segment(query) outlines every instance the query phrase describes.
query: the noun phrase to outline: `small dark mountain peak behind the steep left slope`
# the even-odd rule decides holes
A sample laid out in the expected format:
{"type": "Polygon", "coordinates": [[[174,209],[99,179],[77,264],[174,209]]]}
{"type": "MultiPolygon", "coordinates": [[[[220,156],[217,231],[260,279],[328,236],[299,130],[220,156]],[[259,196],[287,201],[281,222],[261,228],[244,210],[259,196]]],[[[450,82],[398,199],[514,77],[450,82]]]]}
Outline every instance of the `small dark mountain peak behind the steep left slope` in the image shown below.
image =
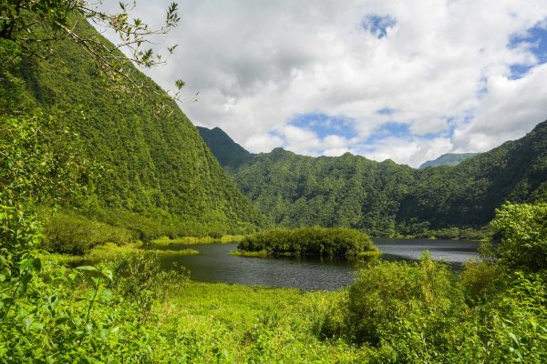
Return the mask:
{"type": "Polygon", "coordinates": [[[233,171],[253,159],[253,154],[235,143],[220,127],[197,127],[212,154],[225,169],[233,171]]]}

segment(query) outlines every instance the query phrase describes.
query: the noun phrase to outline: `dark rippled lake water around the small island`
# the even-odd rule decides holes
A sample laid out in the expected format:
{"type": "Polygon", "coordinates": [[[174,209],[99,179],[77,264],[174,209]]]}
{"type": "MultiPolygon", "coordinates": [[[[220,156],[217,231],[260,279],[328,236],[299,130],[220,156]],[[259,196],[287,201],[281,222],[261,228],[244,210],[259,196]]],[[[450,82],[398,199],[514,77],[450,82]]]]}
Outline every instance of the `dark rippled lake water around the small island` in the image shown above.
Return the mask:
{"type": "MultiPolygon", "coordinates": [[[[455,240],[374,239],[386,260],[414,260],[426,249],[434,259],[454,268],[478,258],[479,243],[455,240]]],[[[295,258],[253,258],[228,254],[237,244],[170,245],[165,249],[192,248],[200,255],[162,258],[165,268],[174,263],[190,269],[191,279],[206,282],[242,283],[304,290],[335,290],[350,285],[359,264],[346,261],[320,261],[295,258]]]]}

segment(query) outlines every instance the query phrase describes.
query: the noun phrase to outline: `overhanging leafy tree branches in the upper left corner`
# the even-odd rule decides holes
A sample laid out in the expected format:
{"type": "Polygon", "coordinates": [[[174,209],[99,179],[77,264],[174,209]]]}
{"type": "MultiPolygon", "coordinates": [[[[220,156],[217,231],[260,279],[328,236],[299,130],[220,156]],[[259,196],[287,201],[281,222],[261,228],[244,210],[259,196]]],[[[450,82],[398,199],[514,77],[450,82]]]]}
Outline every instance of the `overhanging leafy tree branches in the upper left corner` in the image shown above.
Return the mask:
{"type": "MultiPolygon", "coordinates": [[[[0,0],[0,39],[14,42],[27,55],[42,58],[52,52],[52,45],[58,40],[71,39],[95,60],[100,71],[114,84],[122,86],[117,82],[122,79],[129,84],[129,90],[144,91],[144,84],[131,76],[131,66],[151,67],[165,62],[165,57],[152,47],[151,38],[167,34],[177,26],[180,21],[177,3],[169,5],[164,25],[159,29],[151,29],[141,19],[131,18],[134,3],[120,2],[117,13],[101,11],[98,5],[100,2],[88,0],[0,0]],[[119,36],[119,44],[111,45],[97,35],[77,32],[78,23],[86,20],[114,31],[119,36]]],[[[176,47],[168,46],[168,54],[176,47]]],[[[0,65],[0,79],[2,68],[0,65]]],[[[182,86],[182,80],[175,81],[174,98],[182,86]]]]}

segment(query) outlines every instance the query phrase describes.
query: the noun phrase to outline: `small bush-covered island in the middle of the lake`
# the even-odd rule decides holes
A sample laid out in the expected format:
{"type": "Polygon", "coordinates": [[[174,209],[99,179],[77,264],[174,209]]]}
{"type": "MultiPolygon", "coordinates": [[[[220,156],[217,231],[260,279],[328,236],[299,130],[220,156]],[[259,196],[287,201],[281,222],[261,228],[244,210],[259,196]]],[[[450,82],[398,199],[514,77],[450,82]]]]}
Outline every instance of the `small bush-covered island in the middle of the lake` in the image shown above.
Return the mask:
{"type": "Polygon", "coordinates": [[[378,254],[365,233],[347,227],[274,229],[243,238],[236,255],[354,259],[378,254]]]}

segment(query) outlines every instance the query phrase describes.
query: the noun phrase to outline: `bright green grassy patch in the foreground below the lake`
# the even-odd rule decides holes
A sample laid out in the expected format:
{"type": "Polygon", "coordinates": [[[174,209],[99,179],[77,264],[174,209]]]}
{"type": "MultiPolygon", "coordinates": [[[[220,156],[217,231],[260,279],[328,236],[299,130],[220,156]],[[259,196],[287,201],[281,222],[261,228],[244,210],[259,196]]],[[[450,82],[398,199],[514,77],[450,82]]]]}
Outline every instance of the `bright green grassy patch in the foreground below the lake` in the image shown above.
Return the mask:
{"type": "Polygon", "coordinates": [[[314,334],[317,315],[340,292],[192,281],[175,291],[158,324],[187,340],[178,343],[186,362],[361,362],[362,350],[314,334]]]}

